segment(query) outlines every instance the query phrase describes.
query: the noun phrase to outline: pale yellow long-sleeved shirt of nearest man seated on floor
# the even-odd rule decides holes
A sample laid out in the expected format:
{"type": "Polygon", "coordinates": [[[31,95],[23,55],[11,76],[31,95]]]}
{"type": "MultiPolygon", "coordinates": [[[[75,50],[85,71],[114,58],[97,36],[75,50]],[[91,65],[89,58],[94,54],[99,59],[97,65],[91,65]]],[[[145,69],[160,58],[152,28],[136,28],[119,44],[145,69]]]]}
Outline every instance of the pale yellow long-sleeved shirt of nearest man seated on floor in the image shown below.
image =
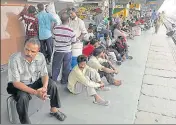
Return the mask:
{"type": "Polygon", "coordinates": [[[73,70],[70,72],[68,77],[68,85],[67,88],[75,94],[74,88],[77,83],[84,84],[85,86],[89,86],[92,88],[100,87],[99,83],[96,83],[94,81],[91,81],[90,79],[86,78],[86,72],[94,71],[96,72],[95,77],[98,79],[98,81],[101,81],[100,75],[95,69],[90,68],[89,66],[86,66],[83,71],[79,69],[78,65],[76,65],[73,70]]]}

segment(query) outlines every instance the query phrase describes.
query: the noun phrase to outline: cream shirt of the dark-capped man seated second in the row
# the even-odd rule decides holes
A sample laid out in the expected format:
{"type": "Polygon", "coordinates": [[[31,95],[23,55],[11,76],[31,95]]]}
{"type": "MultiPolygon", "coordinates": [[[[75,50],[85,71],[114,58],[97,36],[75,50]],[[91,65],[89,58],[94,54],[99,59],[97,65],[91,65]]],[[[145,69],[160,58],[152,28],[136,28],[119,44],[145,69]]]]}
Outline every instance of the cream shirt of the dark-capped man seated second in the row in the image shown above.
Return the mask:
{"type": "Polygon", "coordinates": [[[91,56],[87,65],[98,71],[104,68],[104,66],[101,65],[103,62],[105,62],[105,60],[101,58],[97,59],[95,56],[91,56]]]}

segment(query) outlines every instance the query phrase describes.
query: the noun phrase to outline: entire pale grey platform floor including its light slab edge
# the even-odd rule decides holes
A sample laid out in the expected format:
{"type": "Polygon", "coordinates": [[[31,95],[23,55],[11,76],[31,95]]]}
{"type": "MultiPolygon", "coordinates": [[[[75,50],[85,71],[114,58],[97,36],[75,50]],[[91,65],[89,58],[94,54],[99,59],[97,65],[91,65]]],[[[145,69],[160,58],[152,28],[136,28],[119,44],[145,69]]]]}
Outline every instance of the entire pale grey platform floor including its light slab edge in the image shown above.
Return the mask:
{"type": "MultiPolygon", "coordinates": [[[[49,116],[49,101],[35,104],[31,114],[33,124],[176,124],[176,45],[162,26],[158,34],[153,29],[129,40],[133,60],[125,61],[115,77],[120,87],[110,86],[98,93],[110,100],[109,106],[93,104],[86,92],[72,95],[58,84],[64,122],[49,116]]],[[[1,72],[1,123],[8,124],[6,98],[7,72],[1,72]],[[3,79],[3,80],[2,80],[3,79]]],[[[106,80],[104,80],[106,82],[106,80]]],[[[106,82],[107,83],[107,82],[106,82]]]]}

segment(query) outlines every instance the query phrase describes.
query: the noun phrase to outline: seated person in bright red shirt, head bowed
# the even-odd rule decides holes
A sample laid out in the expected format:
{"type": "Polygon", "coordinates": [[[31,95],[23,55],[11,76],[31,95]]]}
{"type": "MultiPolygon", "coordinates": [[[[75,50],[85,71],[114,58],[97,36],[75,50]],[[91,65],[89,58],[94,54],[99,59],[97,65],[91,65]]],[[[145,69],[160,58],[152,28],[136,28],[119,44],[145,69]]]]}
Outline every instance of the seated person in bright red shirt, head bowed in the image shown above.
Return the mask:
{"type": "Polygon", "coordinates": [[[92,55],[92,52],[95,48],[97,48],[100,45],[100,42],[97,39],[92,39],[88,45],[84,46],[83,48],[83,55],[86,57],[89,57],[92,55]]]}

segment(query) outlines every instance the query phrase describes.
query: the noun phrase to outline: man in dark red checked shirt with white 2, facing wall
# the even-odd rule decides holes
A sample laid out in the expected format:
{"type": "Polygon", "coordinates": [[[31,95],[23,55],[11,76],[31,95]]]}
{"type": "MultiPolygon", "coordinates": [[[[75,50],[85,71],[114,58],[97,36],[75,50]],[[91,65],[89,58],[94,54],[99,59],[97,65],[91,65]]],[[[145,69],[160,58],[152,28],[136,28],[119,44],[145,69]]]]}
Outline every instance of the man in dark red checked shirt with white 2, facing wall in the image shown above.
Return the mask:
{"type": "Polygon", "coordinates": [[[38,19],[35,17],[36,8],[34,6],[25,5],[24,9],[20,13],[21,21],[24,20],[26,28],[26,40],[31,37],[38,37],[38,19]]]}

